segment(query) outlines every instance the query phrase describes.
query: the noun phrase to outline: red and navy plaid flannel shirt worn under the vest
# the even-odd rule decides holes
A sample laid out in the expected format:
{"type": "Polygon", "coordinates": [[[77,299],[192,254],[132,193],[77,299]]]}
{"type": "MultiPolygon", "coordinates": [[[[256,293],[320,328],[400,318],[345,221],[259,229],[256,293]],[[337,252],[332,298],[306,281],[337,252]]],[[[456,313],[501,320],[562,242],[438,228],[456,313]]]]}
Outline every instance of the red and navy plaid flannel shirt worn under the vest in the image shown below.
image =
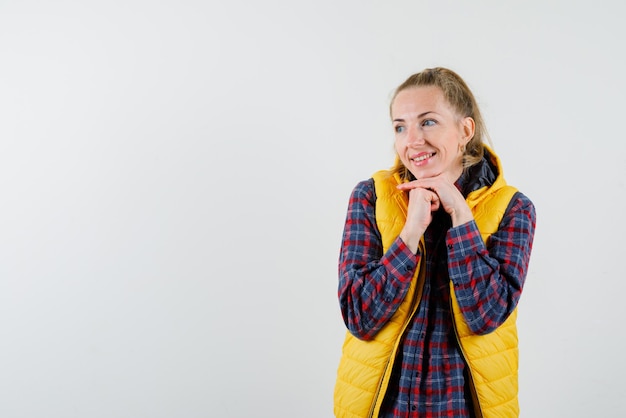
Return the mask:
{"type": "MultiPolygon", "coordinates": [[[[461,189],[463,176],[457,182],[461,189]]],[[[350,197],[339,259],[339,301],[346,326],[372,339],[401,304],[422,254],[397,238],[382,252],[372,179],[350,197]]],[[[477,334],[502,324],[517,306],[530,258],[535,208],[522,193],[509,205],[487,248],[474,221],[451,227],[443,211],[424,234],[422,299],[402,336],[380,417],[473,416],[467,370],[450,312],[449,282],[477,334]]]]}

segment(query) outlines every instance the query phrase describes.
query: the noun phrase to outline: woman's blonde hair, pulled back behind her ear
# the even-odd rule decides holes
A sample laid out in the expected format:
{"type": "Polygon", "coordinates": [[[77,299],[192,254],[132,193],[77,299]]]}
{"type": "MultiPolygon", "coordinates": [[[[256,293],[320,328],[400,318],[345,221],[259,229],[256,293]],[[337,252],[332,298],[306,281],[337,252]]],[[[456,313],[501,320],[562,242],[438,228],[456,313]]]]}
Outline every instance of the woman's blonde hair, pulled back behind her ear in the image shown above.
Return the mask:
{"type": "MultiPolygon", "coordinates": [[[[427,68],[422,72],[413,74],[396,88],[391,98],[389,112],[391,113],[391,106],[398,93],[412,87],[426,86],[439,87],[443,92],[443,97],[448,104],[452,106],[458,116],[462,118],[471,117],[474,119],[474,136],[467,143],[465,151],[463,152],[463,168],[467,169],[478,164],[482,160],[485,152],[483,141],[486,139],[491,143],[491,140],[487,133],[487,128],[480,113],[480,109],[478,108],[478,103],[474,98],[474,94],[465,81],[454,71],[443,67],[435,67],[427,68]]],[[[391,171],[391,174],[397,173],[403,180],[412,179],[411,173],[404,164],[402,164],[400,158],[396,158],[396,163],[391,171]]]]}

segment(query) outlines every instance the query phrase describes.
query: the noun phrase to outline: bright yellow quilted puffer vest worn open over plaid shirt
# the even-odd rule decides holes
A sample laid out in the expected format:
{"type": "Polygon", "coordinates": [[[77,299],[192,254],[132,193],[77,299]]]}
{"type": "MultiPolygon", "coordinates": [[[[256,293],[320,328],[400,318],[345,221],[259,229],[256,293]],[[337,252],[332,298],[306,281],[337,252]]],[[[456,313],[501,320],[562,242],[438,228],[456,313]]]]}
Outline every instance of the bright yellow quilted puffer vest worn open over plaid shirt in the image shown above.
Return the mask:
{"type": "MultiPolygon", "coordinates": [[[[500,164],[491,153],[494,163],[500,164]]],[[[500,170],[500,173],[502,171],[500,170]]],[[[383,170],[373,176],[376,187],[376,223],[383,241],[383,251],[400,234],[406,220],[406,194],[396,188],[401,180],[383,170]]],[[[474,219],[487,242],[497,231],[504,212],[517,192],[506,185],[502,174],[490,187],[476,190],[467,197],[474,219]]],[[[424,254],[423,240],[420,252],[424,254]]],[[[335,385],[336,417],[377,417],[383,401],[401,336],[417,310],[424,282],[424,266],[418,265],[403,303],[389,322],[370,341],[362,341],[349,332],[343,344],[335,385]]],[[[494,332],[474,335],[460,312],[450,283],[455,331],[469,365],[473,403],[478,418],[514,418],[519,416],[517,401],[517,309],[494,332]]]]}

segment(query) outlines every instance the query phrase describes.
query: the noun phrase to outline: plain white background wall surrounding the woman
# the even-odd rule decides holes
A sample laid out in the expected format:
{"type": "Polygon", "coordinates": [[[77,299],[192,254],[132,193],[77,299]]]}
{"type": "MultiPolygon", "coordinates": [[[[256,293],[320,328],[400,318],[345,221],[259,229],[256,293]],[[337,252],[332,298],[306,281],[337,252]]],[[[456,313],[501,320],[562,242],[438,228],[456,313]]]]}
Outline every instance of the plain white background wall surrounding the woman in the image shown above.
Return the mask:
{"type": "Polygon", "coordinates": [[[536,204],[522,417],[623,417],[619,1],[0,1],[0,416],[332,415],[348,196],[446,66],[536,204]]]}

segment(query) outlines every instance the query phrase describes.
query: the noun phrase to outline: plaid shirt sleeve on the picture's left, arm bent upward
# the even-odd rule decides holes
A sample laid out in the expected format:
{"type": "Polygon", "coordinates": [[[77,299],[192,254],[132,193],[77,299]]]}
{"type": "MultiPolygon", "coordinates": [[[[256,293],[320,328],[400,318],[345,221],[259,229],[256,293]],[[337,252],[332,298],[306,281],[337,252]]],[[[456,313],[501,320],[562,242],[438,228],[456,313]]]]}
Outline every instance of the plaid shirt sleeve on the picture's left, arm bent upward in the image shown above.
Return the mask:
{"type": "Polygon", "coordinates": [[[339,255],[339,304],[348,330],[369,340],[401,304],[420,255],[396,238],[383,254],[372,179],[350,196],[339,255]]]}

